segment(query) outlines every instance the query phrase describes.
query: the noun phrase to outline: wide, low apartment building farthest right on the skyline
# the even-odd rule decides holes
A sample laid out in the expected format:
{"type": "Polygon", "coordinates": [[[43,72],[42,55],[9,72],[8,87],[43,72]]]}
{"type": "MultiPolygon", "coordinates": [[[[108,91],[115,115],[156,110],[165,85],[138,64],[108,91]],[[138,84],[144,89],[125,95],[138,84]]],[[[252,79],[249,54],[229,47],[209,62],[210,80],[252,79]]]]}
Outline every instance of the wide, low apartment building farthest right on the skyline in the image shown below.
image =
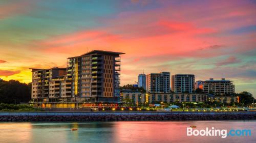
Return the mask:
{"type": "Polygon", "coordinates": [[[233,94],[234,85],[232,81],[225,80],[225,78],[222,78],[221,80],[214,80],[214,78],[210,78],[210,80],[204,81],[203,92],[215,94],[233,94]]]}

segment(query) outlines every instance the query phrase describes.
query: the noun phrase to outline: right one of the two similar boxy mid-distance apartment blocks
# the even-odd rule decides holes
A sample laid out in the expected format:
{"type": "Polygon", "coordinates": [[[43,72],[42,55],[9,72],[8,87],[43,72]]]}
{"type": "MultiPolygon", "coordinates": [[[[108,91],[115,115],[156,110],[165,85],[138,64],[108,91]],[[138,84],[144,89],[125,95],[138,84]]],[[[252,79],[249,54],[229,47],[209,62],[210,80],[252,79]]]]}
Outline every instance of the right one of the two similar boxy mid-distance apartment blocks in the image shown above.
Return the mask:
{"type": "Polygon", "coordinates": [[[195,90],[194,74],[175,74],[172,76],[172,90],[175,93],[193,93],[195,90]]]}

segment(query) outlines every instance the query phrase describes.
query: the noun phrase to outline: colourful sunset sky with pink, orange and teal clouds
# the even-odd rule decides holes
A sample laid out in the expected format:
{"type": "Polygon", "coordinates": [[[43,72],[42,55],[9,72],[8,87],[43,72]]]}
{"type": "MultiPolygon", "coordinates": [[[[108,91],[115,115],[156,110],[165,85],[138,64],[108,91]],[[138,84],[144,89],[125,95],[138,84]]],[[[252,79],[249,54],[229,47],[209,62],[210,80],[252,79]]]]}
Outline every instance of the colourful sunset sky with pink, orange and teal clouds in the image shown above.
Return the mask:
{"type": "Polygon", "coordinates": [[[234,81],[256,95],[256,1],[0,0],[0,78],[66,67],[98,49],[125,52],[121,84],[147,73],[234,81]]]}

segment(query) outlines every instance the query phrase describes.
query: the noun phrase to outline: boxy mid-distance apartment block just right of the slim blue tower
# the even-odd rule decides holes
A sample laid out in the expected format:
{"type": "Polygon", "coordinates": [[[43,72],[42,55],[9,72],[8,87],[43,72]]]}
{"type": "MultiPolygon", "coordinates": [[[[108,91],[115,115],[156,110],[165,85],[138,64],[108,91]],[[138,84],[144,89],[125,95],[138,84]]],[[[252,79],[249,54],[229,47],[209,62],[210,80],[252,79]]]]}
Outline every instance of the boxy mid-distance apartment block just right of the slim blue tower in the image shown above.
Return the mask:
{"type": "Polygon", "coordinates": [[[146,91],[150,93],[170,92],[170,73],[151,73],[146,75],[146,91]]]}

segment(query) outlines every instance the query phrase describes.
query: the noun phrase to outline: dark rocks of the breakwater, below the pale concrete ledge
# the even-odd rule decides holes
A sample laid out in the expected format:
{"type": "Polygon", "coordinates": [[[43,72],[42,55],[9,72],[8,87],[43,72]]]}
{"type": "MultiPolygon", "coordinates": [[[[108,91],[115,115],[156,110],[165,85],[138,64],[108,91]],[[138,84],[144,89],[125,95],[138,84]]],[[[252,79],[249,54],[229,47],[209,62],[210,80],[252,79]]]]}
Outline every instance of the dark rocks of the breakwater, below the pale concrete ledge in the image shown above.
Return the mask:
{"type": "Polygon", "coordinates": [[[94,121],[186,121],[256,120],[252,113],[164,113],[162,115],[0,115],[0,122],[94,122],[94,121]]]}

